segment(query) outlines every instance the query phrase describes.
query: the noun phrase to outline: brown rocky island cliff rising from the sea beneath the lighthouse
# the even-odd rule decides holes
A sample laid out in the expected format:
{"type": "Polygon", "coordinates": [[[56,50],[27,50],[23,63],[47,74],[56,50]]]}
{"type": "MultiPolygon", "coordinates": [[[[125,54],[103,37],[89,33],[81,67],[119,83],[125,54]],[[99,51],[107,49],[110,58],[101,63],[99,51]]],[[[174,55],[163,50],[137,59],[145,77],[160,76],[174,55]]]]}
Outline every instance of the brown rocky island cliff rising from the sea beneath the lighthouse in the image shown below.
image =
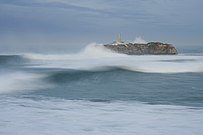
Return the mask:
{"type": "Polygon", "coordinates": [[[127,44],[106,44],[104,47],[117,53],[128,55],[176,55],[178,54],[176,48],[171,44],[160,42],[149,42],[147,44],[127,43],[127,44]]]}

